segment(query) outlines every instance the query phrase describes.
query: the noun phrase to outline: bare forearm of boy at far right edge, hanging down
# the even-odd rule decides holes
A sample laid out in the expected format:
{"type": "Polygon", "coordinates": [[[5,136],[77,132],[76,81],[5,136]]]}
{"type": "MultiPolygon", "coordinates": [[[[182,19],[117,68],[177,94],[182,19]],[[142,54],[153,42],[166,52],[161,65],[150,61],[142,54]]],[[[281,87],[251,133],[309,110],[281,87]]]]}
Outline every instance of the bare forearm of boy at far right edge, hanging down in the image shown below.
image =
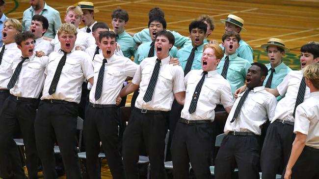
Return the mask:
{"type": "Polygon", "coordinates": [[[303,148],[306,144],[307,135],[297,132],[296,138],[292,144],[292,153],[289,157],[289,161],[286,167],[285,179],[290,179],[292,175],[292,167],[296,163],[298,157],[300,156],[303,148]]]}

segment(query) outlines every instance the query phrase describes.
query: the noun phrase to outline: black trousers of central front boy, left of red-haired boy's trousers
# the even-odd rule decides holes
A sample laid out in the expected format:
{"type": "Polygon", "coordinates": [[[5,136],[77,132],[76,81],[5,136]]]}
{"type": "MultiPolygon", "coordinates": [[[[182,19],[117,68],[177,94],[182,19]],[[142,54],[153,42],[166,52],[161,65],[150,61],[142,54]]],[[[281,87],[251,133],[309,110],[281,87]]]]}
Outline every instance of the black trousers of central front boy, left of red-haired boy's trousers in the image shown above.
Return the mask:
{"type": "Polygon", "coordinates": [[[164,149],[168,117],[169,112],[141,113],[133,110],[123,134],[123,164],[127,179],[139,178],[137,162],[142,139],[151,163],[151,178],[167,178],[164,169],[164,149]]]}

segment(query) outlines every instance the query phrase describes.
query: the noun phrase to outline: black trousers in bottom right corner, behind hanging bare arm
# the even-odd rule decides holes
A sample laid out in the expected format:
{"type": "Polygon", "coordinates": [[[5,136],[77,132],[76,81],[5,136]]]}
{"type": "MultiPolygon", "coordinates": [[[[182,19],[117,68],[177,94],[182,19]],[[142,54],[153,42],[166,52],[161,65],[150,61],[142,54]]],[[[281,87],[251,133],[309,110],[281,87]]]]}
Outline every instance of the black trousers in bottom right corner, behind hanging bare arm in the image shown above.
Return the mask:
{"type": "MultiPolygon", "coordinates": [[[[319,149],[305,146],[292,167],[292,179],[319,179],[319,149]]],[[[287,165],[286,165],[287,166],[287,165]]],[[[284,179],[286,167],[281,178],[284,179]]]]}

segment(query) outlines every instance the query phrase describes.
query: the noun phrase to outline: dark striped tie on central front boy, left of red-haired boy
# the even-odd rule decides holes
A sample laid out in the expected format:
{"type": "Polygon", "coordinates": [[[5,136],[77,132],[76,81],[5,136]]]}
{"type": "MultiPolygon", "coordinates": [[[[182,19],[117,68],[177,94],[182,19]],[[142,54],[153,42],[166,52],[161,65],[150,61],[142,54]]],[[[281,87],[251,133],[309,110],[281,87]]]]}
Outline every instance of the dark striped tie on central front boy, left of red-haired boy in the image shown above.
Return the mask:
{"type": "Polygon", "coordinates": [[[156,59],[156,61],[157,62],[155,64],[155,67],[154,67],[154,70],[153,70],[153,73],[152,73],[152,76],[151,76],[150,83],[148,84],[147,90],[146,90],[145,95],[143,97],[143,100],[145,102],[149,102],[149,101],[152,100],[154,88],[155,88],[157,79],[159,77],[161,61],[160,61],[160,59],[156,59]]]}

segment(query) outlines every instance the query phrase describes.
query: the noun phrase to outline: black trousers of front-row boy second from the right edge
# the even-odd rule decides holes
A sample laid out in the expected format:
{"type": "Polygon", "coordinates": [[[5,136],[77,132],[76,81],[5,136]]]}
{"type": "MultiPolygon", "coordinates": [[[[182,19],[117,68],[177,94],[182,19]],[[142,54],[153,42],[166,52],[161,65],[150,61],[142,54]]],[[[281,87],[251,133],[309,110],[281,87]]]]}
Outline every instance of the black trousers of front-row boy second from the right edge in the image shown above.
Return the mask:
{"type": "Polygon", "coordinates": [[[281,174],[292,151],[293,126],[273,122],[269,125],[261,153],[263,179],[274,179],[281,174]]]}

